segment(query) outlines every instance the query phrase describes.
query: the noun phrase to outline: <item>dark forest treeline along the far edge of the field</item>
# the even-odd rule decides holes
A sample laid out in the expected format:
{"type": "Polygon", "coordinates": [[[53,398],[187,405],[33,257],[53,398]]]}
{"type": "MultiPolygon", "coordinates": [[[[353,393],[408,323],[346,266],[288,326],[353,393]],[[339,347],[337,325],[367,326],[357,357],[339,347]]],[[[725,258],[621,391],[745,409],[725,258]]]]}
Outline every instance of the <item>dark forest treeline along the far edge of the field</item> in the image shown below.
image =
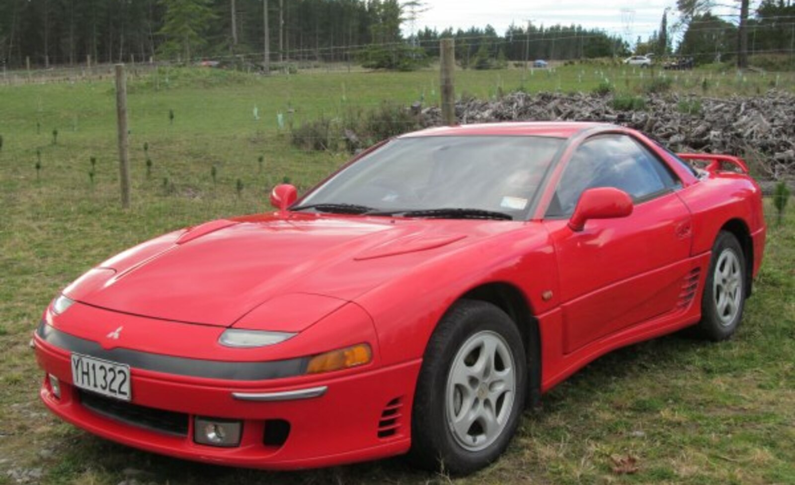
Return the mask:
{"type": "MultiPolygon", "coordinates": [[[[404,68],[437,56],[442,37],[454,37],[456,57],[474,66],[484,59],[502,63],[630,54],[630,45],[618,34],[581,25],[511,25],[504,33],[486,25],[413,33],[423,8],[417,0],[2,0],[0,63],[22,66],[29,58],[37,66],[74,65],[87,57],[95,63],[196,61],[240,54],[262,59],[268,51],[274,62],[359,61],[404,68]]],[[[709,11],[693,12],[679,53],[702,61],[731,57],[738,27],[709,11]]],[[[754,49],[793,48],[795,6],[789,0],[760,2],[751,17],[746,28],[753,29],[754,49]]],[[[668,29],[663,18],[653,38],[638,39],[637,49],[673,53],[668,29]]]]}

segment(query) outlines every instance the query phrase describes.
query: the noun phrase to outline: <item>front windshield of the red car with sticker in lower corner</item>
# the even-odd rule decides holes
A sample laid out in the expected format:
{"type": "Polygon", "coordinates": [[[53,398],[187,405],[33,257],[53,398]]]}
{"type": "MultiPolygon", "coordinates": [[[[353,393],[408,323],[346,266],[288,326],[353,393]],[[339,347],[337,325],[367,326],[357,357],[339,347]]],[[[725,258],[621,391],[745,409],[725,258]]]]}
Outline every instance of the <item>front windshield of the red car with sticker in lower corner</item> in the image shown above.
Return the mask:
{"type": "Polygon", "coordinates": [[[327,205],[328,212],[347,206],[356,213],[421,216],[475,209],[518,219],[563,143],[539,136],[396,139],[336,174],[293,210],[327,205]]]}

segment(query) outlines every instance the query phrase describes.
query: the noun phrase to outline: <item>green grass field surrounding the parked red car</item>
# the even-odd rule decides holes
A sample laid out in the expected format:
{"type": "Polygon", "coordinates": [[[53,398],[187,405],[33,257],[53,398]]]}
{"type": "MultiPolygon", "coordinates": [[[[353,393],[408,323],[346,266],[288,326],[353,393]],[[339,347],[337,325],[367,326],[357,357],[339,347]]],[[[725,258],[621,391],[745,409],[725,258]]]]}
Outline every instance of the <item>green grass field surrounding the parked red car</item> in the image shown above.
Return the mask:
{"type": "MultiPolygon", "coordinates": [[[[639,72],[601,70],[536,71],[527,75],[525,88],[590,91],[610,77],[619,91],[642,89],[639,72]]],[[[456,72],[456,88],[495,96],[498,86],[506,92],[520,86],[522,76],[515,69],[456,72]]],[[[707,96],[752,95],[775,83],[770,75],[743,80],[708,70],[679,76],[675,88],[697,94],[707,78],[707,96]]],[[[781,76],[779,88],[792,90],[793,79],[781,76]]],[[[266,191],[274,183],[289,177],[305,189],[345,160],[343,154],[291,147],[287,127],[277,126],[278,112],[285,125],[291,117],[295,124],[320,114],[338,117],[382,100],[435,99],[436,84],[432,71],[261,78],[171,70],[133,80],[128,211],[118,204],[110,81],[0,86],[0,484],[114,485],[131,478],[170,484],[447,483],[444,473],[413,471],[399,459],[270,473],[123,448],[45,412],[37,401],[41,374],[27,346],[48,301],[107,256],[184,225],[266,210],[266,191]]],[[[599,359],[553,389],[543,413],[527,414],[501,461],[454,481],[795,483],[793,213],[781,229],[770,227],[765,264],[734,339],[714,345],[675,335],[599,359]],[[638,471],[613,471],[614,460],[627,456],[637,459],[638,471]]]]}

